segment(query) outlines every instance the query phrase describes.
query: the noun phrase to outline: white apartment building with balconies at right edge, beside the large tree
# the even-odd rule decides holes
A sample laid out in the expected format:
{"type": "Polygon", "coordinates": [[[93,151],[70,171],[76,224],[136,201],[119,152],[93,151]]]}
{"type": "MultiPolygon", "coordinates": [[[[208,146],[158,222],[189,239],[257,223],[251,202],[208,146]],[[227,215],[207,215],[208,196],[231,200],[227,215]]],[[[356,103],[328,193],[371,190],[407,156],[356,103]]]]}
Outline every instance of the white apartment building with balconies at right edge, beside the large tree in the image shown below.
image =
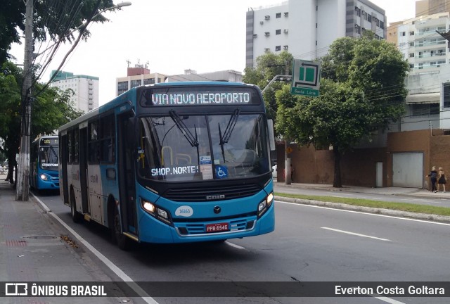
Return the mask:
{"type": "Polygon", "coordinates": [[[400,125],[392,126],[392,131],[450,127],[450,101],[444,94],[450,87],[449,42],[439,34],[449,28],[449,12],[420,15],[388,27],[387,41],[397,45],[410,68],[406,78],[406,115],[400,125]]]}

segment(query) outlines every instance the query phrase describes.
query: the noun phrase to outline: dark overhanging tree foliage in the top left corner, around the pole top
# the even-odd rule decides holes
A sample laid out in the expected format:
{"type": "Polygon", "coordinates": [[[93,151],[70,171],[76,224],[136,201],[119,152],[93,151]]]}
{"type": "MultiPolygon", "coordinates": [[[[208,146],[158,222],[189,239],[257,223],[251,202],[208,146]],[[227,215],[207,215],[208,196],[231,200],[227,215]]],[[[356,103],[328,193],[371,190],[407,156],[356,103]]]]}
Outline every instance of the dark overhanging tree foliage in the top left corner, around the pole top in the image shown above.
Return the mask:
{"type": "MultiPolygon", "coordinates": [[[[74,32],[80,30],[86,39],[90,33],[80,28],[86,20],[93,17],[98,9],[114,6],[113,0],[43,0],[34,1],[33,37],[44,42],[72,42],[74,32]],[[47,36],[48,35],[48,36],[47,36]]],[[[11,44],[20,43],[20,31],[25,30],[25,1],[3,0],[0,11],[0,65],[11,55],[11,44]]],[[[99,15],[94,21],[105,22],[99,15]]]]}

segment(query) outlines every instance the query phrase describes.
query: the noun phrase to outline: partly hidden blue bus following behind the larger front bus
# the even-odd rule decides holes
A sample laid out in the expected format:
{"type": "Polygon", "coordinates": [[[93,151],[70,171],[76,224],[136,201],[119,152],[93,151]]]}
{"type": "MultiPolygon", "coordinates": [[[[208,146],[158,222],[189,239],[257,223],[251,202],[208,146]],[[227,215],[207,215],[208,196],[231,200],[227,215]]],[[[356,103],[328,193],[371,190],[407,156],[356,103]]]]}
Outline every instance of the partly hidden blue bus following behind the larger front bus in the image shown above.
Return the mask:
{"type": "Polygon", "coordinates": [[[30,146],[30,186],[58,190],[58,135],[38,137],[30,146]]]}

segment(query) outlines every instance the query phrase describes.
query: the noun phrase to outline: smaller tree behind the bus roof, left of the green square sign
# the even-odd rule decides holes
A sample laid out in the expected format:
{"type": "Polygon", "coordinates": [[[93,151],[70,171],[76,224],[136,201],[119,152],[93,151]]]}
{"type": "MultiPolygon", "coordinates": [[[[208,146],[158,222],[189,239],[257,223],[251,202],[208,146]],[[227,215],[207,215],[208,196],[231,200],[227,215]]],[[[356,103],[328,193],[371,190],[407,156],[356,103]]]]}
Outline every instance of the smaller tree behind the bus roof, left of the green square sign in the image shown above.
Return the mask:
{"type": "MultiPolygon", "coordinates": [[[[276,75],[288,75],[292,72],[293,56],[282,51],[279,54],[264,53],[256,59],[255,67],[247,67],[244,70],[243,82],[256,84],[260,89],[264,89],[276,75]]],[[[264,92],[264,103],[266,105],[267,117],[276,119],[276,99],[275,92],[283,87],[283,82],[271,84],[271,89],[264,92]]]]}

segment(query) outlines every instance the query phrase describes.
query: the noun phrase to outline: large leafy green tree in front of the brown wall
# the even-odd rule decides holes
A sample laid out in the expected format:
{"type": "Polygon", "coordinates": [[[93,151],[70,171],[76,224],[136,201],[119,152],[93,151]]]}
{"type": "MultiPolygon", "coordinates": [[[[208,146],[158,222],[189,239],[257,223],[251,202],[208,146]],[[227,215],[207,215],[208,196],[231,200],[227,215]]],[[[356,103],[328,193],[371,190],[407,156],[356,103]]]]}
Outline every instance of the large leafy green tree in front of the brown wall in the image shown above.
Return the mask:
{"type": "Polygon", "coordinates": [[[342,154],[404,113],[409,65],[394,44],[371,32],[337,39],[321,62],[319,97],[293,96],[288,86],[277,92],[276,129],[297,144],[333,148],[333,186],[341,187],[342,154]]]}

